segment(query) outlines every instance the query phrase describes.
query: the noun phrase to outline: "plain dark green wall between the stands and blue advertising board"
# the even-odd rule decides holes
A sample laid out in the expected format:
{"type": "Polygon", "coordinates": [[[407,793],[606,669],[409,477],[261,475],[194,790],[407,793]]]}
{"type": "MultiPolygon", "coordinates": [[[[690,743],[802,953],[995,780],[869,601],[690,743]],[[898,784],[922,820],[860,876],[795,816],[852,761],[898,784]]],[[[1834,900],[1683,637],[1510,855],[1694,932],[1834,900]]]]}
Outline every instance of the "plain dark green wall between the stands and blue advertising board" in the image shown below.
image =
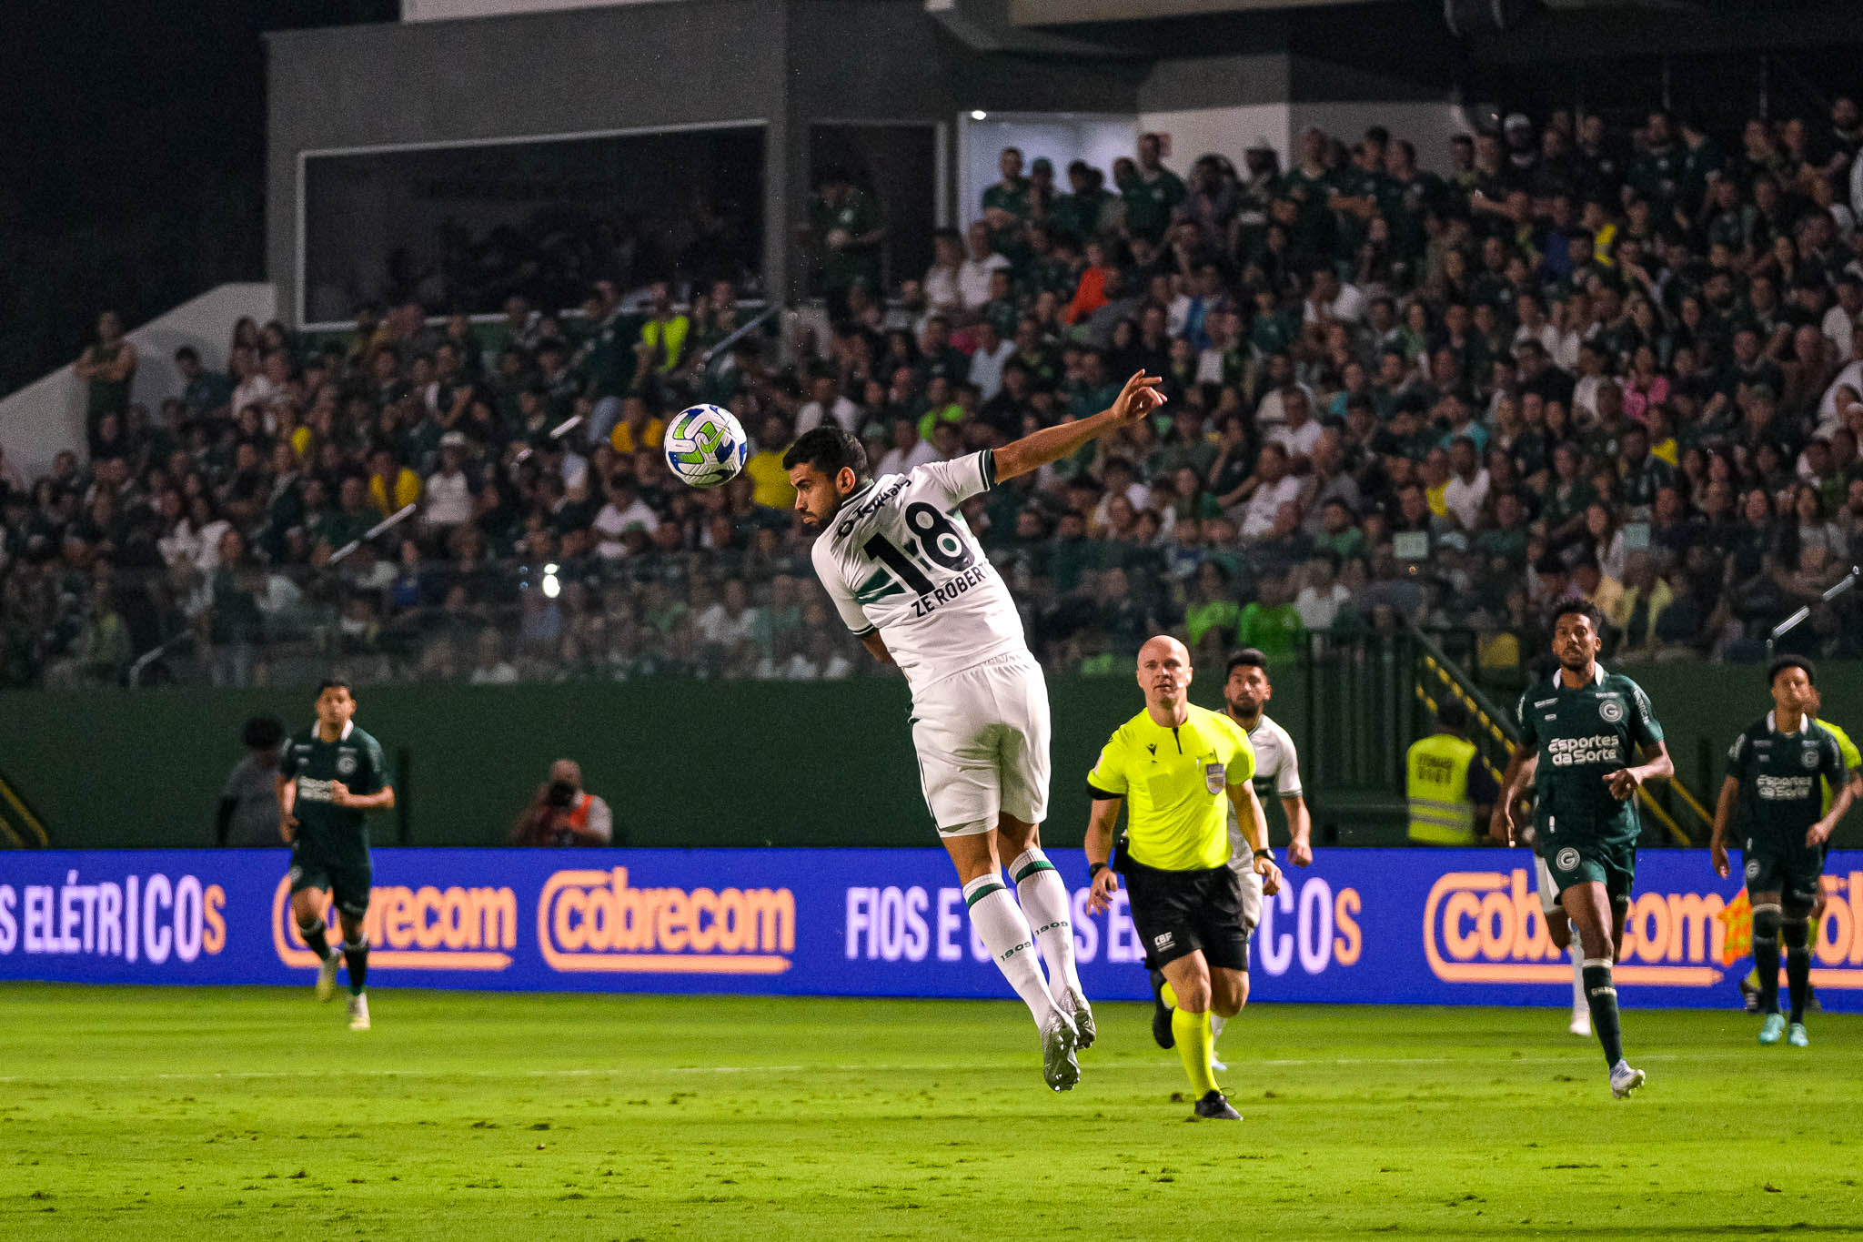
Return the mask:
{"type": "MultiPolygon", "coordinates": [[[[1727,741],[1768,708],[1762,672],[1723,665],[1626,672],[1654,700],[1682,778],[1712,799],[1727,741]]],[[[1220,682],[1220,668],[1203,668],[1194,698],[1218,706],[1220,682]]],[[[1300,745],[1317,840],[1401,836],[1399,760],[1423,715],[1403,655],[1367,650],[1289,667],[1274,683],[1269,711],[1300,745]]],[[[1820,687],[1833,721],[1863,726],[1863,665],[1828,667],[1820,687]]],[[[1086,773],[1142,698],[1127,676],[1056,680],[1049,693],[1054,782],[1045,838],[1073,845],[1086,827],[1086,773]]],[[[499,844],[559,756],[581,762],[587,786],[613,803],[633,845],[933,840],[898,680],[397,685],[361,687],[360,704],[358,721],[382,739],[402,795],[395,812],[374,819],[384,844],[499,844]]],[[[311,695],[4,693],[0,771],[52,845],[207,845],[220,788],[240,758],[240,724],[259,713],[307,726],[311,695]]],[[[1859,821],[1852,816],[1839,830],[1843,844],[1863,842],[1859,821]]]]}

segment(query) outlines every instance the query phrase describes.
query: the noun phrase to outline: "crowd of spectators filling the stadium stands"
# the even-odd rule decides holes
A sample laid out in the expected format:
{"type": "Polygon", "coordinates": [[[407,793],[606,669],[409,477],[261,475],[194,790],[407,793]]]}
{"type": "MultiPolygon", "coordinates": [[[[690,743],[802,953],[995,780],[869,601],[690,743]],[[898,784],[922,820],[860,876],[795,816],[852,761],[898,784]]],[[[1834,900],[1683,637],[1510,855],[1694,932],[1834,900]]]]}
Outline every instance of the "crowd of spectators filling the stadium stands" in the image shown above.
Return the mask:
{"type": "MultiPolygon", "coordinates": [[[[1289,657],[1408,618],[1518,676],[1567,594],[1619,659],[1757,659],[1863,549],[1859,147],[1839,99],[1723,138],[1513,114],[1448,175],[1382,128],[1181,177],[1144,136],[1112,188],[1004,151],[898,289],[883,205],[831,173],[825,309],[775,337],[738,335],[730,285],[598,281],[497,324],[369,307],[326,337],[242,322],[229,371],[184,352],[156,410],[106,315],[82,458],[32,484],[0,462],[0,682],[121,683],[155,648],[142,680],[216,685],[848,676],[794,436],[833,419],[900,471],[1140,369],[1155,421],[967,514],[1054,670],[1123,668],[1157,629],[1289,657]],[[658,451],[693,400],[755,441],[715,492],[658,451]]],[[[1785,646],[1863,655],[1857,598],[1785,646]]]]}

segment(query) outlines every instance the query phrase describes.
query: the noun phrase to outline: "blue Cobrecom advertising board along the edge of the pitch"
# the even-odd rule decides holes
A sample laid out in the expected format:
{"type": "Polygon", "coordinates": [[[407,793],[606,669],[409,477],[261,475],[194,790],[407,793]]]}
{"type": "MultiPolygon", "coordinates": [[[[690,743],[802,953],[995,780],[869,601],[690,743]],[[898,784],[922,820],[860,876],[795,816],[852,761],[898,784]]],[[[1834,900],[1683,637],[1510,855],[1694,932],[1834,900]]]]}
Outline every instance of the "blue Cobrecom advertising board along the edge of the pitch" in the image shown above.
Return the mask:
{"type": "MultiPolygon", "coordinates": [[[[1051,857],[1073,890],[1088,994],[1146,998],[1125,896],[1088,916],[1082,857],[1051,857]]],[[[0,978],[309,983],[285,866],[285,851],[6,855],[0,978]]],[[[378,987],[1008,994],[937,849],[378,849],[374,868],[378,987]]],[[[1863,1009],[1863,851],[1826,871],[1813,981],[1828,1009],[1863,1009]]],[[[1736,1004],[1738,894],[1703,851],[1645,851],[1623,1002],[1736,1004]]],[[[1265,903],[1252,974],[1259,1002],[1571,998],[1531,857],[1507,849],[1323,851],[1265,903]]]]}

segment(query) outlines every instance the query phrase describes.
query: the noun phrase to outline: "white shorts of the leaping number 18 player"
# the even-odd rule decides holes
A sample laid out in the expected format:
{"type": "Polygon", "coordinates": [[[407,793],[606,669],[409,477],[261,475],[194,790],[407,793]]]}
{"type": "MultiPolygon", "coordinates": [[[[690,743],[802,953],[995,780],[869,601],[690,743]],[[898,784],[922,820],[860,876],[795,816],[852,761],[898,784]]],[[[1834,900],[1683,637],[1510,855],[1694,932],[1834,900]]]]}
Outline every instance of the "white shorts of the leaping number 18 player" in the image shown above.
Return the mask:
{"type": "Polygon", "coordinates": [[[913,696],[918,788],[941,836],[971,836],[999,816],[1047,817],[1049,706],[1041,665],[1012,652],[913,696]]]}

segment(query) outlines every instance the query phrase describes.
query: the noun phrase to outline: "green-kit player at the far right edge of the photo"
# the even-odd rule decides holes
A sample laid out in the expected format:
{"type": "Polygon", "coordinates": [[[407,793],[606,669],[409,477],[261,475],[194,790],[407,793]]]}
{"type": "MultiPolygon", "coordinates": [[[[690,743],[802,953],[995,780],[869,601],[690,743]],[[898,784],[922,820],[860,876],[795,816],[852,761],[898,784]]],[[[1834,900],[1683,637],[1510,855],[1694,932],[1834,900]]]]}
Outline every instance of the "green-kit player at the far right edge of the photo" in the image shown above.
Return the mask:
{"type": "Polygon", "coordinates": [[[1779,1015],[1779,938],[1785,937],[1785,978],[1792,989],[1792,1026],[1787,1043],[1803,1048],[1805,998],[1811,991],[1811,924],[1824,873],[1824,844],[1850,810],[1850,780],[1837,736],[1813,717],[1816,678],[1809,659],[1787,655],[1766,670],[1772,711],[1734,737],[1727,750],[1727,778],[1714,806],[1710,851],[1714,873],[1727,875],[1727,836],[1736,808],[1746,832],[1746,883],[1753,901],[1753,965],[1759,968],[1759,1007],[1766,1020],[1759,1041],[1779,1043],[1787,1024],[1779,1015]],[[1824,782],[1837,797],[1824,804],[1824,782]]]}

